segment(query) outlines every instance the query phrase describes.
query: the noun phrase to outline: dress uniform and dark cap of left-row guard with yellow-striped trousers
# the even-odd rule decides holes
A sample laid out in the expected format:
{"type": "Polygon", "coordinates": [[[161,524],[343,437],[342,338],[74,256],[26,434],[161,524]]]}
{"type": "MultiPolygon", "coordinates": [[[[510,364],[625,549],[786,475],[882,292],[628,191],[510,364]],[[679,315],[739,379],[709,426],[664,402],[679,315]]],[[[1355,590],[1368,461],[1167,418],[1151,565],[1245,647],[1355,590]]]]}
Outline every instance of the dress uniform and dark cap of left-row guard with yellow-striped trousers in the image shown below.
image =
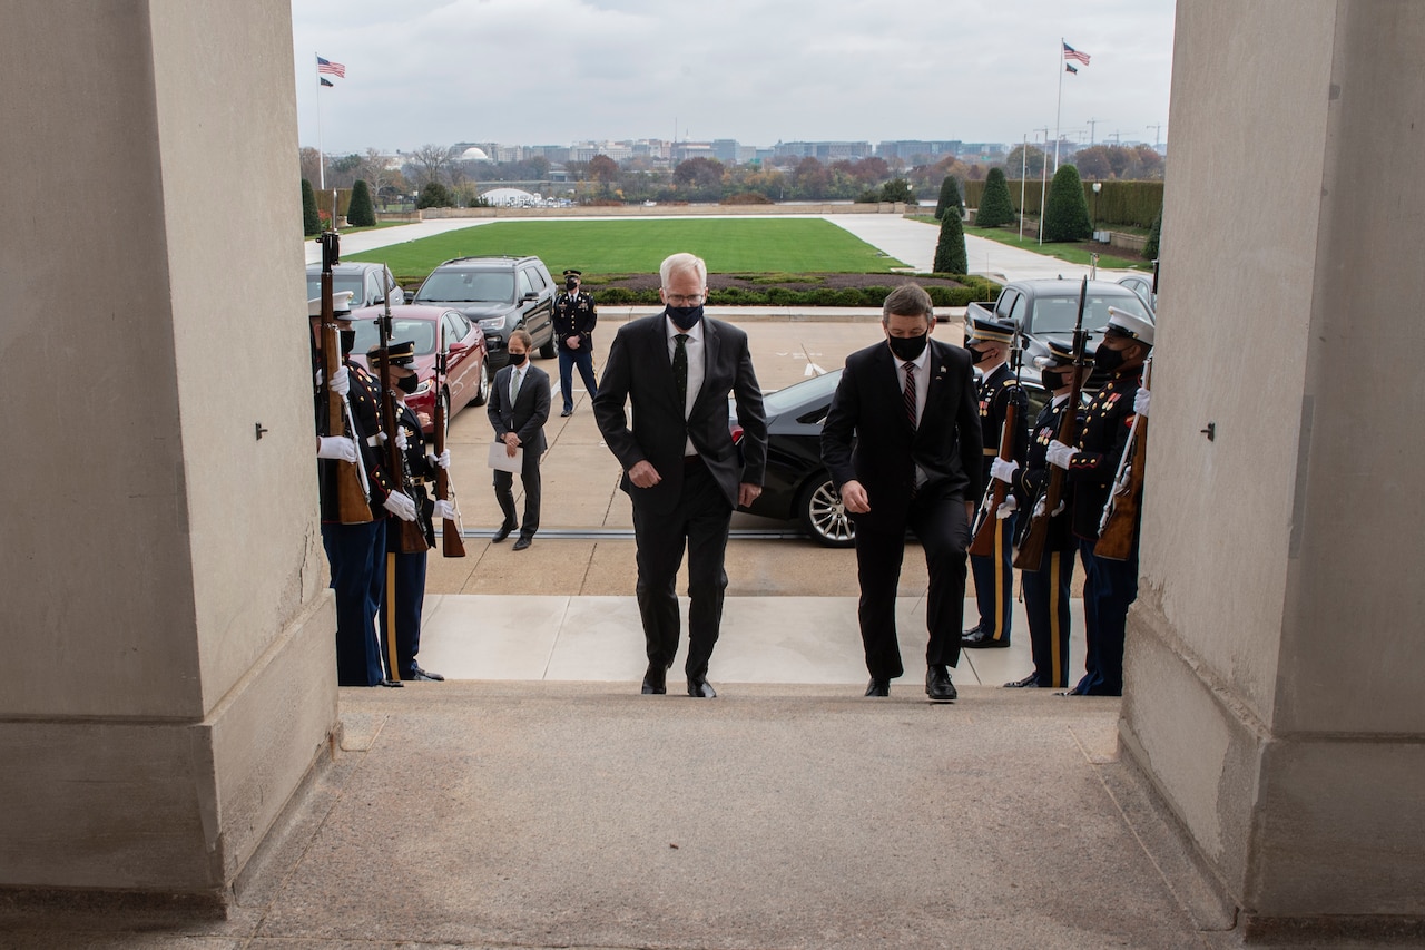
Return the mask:
{"type": "MultiPolygon", "coordinates": [[[[412,341],[393,342],[389,348],[390,365],[415,369],[416,345],[412,341]]],[[[379,348],[373,348],[368,357],[373,369],[379,372],[379,348]]],[[[398,475],[405,479],[405,492],[416,504],[416,522],[426,543],[435,548],[435,499],[428,489],[436,476],[435,456],[426,452],[425,436],[420,431],[420,419],[415,411],[405,404],[400,392],[396,394],[398,414],[396,428],[405,436],[406,448],[402,451],[405,471],[398,475]]],[[[386,535],[386,553],[392,555],[392,571],[395,573],[395,603],[389,613],[396,620],[396,668],[402,680],[442,680],[439,673],[420,669],[416,663],[416,653],[420,652],[420,618],[426,602],[426,563],[429,551],[408,552],[400,549],[400,532],[390,531],[386,535]]],[[[385,601],[385,586],[382,588],[385,601]]],[[[385,605],[382,605],[385,606],[385,605]]],[[[388,611],[380,611],[380,642],[386,642],[388,611]]]]}

